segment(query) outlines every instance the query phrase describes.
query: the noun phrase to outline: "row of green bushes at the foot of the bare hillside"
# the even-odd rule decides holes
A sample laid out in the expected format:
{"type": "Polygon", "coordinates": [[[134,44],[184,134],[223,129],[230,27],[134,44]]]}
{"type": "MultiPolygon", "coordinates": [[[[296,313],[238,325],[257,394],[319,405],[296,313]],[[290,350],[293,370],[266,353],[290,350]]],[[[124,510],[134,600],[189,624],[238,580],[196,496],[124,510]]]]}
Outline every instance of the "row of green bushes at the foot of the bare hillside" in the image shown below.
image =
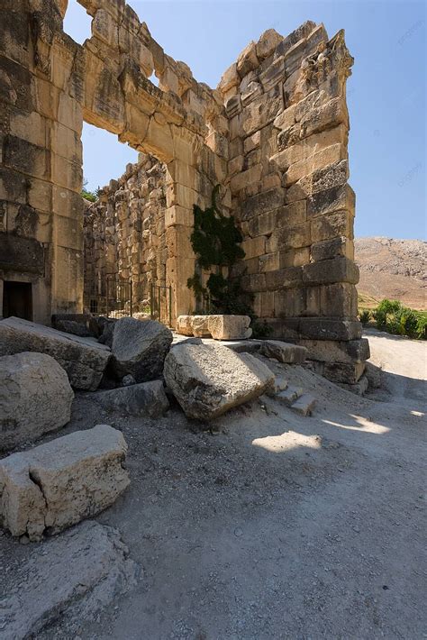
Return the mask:
{"type": "Polygon", "coordinates": [[[415,340],[427,339],[427,311],[415,311],[398,300],[382,300],[376,309],[359,311],[362,325],[368,325],[372,318],[377,329],[388,334],[407,335],[415,340]]]}

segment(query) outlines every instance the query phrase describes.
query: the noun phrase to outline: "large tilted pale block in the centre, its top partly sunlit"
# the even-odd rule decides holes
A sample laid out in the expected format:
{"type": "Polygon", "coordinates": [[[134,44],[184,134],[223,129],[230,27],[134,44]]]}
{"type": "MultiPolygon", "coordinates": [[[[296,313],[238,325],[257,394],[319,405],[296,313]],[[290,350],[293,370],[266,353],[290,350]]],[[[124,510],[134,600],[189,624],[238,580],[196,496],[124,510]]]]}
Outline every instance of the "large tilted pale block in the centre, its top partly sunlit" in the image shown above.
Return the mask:
{"type": "Polygon", "coordinates": [[[177,344],[164,377],[186,416],[205,420],[258,398],[274,383],[267,365],[222,344],[177,344]]]}

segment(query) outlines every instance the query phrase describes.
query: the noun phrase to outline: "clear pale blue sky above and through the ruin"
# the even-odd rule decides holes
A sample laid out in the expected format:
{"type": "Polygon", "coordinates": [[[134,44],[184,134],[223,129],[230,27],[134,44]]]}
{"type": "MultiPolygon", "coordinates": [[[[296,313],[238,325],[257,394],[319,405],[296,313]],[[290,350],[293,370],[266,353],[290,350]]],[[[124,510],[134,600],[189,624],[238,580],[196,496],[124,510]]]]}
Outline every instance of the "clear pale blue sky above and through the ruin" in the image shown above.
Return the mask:
{"type": "MultiPolygon", "coordinates": [[[[152,36],[195,78],[216,87],[250,40],[274,27],[282,35],[305,20],[329,36],[345,29],[355,59],[348,80],[350,185],[356,191],[356,236],[426,237],[425,2],[130,2],[152,36]]],[[[89,17],[69,0],[65,30],[89,37],[89,17]]],[[[85,125],[88,187],[122,175],[136,152],[111,133],[85,125]]]]}

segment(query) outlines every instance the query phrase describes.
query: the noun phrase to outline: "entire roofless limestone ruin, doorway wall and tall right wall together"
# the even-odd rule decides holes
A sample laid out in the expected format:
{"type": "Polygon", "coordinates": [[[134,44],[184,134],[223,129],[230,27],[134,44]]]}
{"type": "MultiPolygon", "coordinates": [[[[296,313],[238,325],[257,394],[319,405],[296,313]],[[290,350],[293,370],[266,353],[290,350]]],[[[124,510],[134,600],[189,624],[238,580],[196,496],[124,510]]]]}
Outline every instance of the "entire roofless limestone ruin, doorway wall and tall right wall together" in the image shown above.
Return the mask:
{"type": "Polygon", "coordinates": [[[79,4],[93,17],[83,46],[63,31],[67,0],[2,4],[0,316],[18,305],[50,324],[52,313],[81,312],[84,291],[116,273],[132,278],[137,306],[150,283],[170,286],[174,325],[194,311],[193,205],[208,206],[219,184],[244,236],[242,283],[256,314],[274,337],[308,347],[324,375],[357,382],[368,346],[343,32],[329,39],[312,22],[286,38],[269,30],[211,89],[123,0],[79,4]],[[86,213],[84,121],[141,152],[86,213]]]}

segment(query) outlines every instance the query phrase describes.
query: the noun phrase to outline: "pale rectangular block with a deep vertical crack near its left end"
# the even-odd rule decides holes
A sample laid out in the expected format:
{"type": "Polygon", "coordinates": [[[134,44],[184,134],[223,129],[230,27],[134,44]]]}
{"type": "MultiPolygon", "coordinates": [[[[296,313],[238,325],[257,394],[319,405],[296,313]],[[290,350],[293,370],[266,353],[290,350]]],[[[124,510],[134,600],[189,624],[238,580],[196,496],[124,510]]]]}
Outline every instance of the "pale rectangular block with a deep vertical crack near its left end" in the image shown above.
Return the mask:
{"type": "Polygon", "coordinates": [[[129,485],[127,446],[109,425],[77,431],[0,461],[0,520],[41,540],[109,507],[129,485]]]}

